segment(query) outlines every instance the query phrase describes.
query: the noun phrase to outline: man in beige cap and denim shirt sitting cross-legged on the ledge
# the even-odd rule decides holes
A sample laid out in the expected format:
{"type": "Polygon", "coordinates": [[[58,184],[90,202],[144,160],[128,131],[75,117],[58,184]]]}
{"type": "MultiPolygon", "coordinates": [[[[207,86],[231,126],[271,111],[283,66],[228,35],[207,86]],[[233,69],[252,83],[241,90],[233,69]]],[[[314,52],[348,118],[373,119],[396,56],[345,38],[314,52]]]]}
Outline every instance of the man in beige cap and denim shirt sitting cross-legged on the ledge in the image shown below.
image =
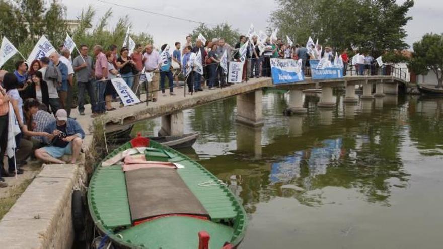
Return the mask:
{"type": "Polygon", "coordinates": [[[64,109],[58,109],[55,118],[56,121],[45,128],[45,132],[51,134],[49,138],[45,137],[49,140],[49,145],[37,149],[35,156],[45,162],[65,164],[58,158],[63,155],[72,155],[71,164],[75,164],[82,149],[85,132],[76,120],[67,117],[64,109]]]}

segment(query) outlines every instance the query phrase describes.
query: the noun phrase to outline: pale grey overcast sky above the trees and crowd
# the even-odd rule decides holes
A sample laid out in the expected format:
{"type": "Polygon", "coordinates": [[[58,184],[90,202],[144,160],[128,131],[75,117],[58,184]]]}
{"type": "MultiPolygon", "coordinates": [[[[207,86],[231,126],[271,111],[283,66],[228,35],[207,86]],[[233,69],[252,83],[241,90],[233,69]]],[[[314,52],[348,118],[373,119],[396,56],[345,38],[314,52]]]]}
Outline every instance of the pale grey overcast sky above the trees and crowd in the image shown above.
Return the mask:
{"type": "MultiPolygon", "coordinates": [[[[136,9],[149,10],[171,16],[192,19],[208,24],[228,22],[233,28],[246,33],[249,25],[254,24],[256,30],[265,30],[268,26],[267,19],[276,4],[272,0],[246,1],[246,0],[222,0],[222,1],[146,1],[146,0],[105,0],[106,2],[130,6],[136,9]],[[252,4],[255,3],[255,4],[252,4]]],[[[117,19],[126,14],[129,15],[135,32],[147,32],[153,35],[157,45],[174,42],[184,42],[197,23],[175,20],[167,17],[153,15],[133,9],[102,3],[98,0],[63,0],[67,7],[67,17],[75,19],[80,16],[82,8],[92,5],[97,12],[97,18],[101,17],[108,8],[112,8],[113,17],[109,22],[113,28],[117,19]]],[[[404,0],[397,0],[403,3],[404,0]]],[[[408,37],[406,42],[410,45],[419,40],[425,33],[443,33],[443,1],[439,0],[416,0],[415,6],[409,11],[413,20],[406,26],[408,37]]],[[[315,38],[314,38],[315,39],[315,38]]],[[[123,37],[122,37],[123,40],[123,37]]]]}

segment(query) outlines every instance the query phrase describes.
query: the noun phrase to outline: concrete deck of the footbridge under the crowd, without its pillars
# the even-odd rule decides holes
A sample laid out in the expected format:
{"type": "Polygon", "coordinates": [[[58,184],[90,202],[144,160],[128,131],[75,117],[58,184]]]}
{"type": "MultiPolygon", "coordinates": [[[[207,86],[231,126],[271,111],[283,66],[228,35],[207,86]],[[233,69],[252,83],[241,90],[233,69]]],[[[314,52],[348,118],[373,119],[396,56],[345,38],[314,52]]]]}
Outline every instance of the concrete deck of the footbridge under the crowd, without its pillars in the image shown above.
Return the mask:
{"type": "MultiPolygon", "coordinates": [[[[332,87],[344,86],[346,81],[364,81],[364,80],[383,80],[386,82],[393,82],[392,76],[346,76],[340,79],[327,79],[327,80],[312,80],[306,78],[305,81],[296,82],[293,84],[276,85],[279,89],[310,89],[315,88],[316,84],[331,85],[332,87]]],[[[176,96],[170,96],[169,90],[166,90],[167,96],[162,96],[159,92],[157,102],[141,103],[131,107],[119,108],[119,103],[112,103],[113,107],[117,110],[107,112],[105,115],[105,123],[107,127],[112,128],[116,126],[131,124],[139,120],[159,117],[166,114],[173,113],[175,111],[181,111],[189,108],[193,108],[199,105],[204,105],[210,102],[226,99],[235,95],[244,94],[257,89],[265,87],[274,87],[271,78],[253,78],[246,83],[235,84],[227,88],[217,88],[215,90],[204,89],[203,92],[194,93],[190,95],[186,93],[184,96],[184,88],[174,88],[176,96]]],[[[186,88],[186,91],[188,89],[186,88]]],[[[146,100],[146,96],[142,95],[141,100],[146,100]]],[[[90,105],[85,106],[85,116],[80,116],[77,110],[71,111],[71,116],[76,117],[82,127],[85,129],[90,127],[92,122],[89,115],[91,114],[90,105]]],[[[109,130],[109,129],[108,129],[109,130]]],[[[89,131],[85,131],[89,132],[89,131]]]]}

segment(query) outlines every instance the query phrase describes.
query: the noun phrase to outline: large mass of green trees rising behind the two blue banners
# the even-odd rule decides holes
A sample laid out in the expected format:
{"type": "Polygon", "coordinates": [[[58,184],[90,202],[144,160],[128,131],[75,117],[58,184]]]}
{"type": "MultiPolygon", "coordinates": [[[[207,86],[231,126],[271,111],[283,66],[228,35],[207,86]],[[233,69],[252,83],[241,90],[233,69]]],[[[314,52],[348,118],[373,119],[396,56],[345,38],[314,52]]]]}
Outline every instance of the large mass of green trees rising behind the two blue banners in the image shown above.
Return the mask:
{"type": "Polygon", "coordinates": [[[374,57],[385,51],[407,48],[404,26],[413,0],[276,0],[270,23],[293,41],[306,43],[309,36],[335,50],[359,49],[374,57]]]}

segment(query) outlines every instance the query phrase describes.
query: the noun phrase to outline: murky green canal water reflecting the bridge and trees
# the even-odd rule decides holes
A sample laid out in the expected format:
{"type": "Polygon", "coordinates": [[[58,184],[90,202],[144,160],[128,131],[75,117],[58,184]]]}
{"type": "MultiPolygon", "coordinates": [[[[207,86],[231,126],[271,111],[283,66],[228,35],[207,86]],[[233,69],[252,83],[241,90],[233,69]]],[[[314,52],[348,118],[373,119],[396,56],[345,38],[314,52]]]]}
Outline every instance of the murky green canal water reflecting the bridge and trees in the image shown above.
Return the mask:
{"type": "MultiPolygon", "coordinates": [[[[386,96],[285,117],[265,92],[264,126],[235,122],[236,99],[184,112],[195,159],[237,194],[240,248],[443,248],[443,99],[386,96]]],[[[133,134],[157,135],[160,119],[133,134]]]]}

